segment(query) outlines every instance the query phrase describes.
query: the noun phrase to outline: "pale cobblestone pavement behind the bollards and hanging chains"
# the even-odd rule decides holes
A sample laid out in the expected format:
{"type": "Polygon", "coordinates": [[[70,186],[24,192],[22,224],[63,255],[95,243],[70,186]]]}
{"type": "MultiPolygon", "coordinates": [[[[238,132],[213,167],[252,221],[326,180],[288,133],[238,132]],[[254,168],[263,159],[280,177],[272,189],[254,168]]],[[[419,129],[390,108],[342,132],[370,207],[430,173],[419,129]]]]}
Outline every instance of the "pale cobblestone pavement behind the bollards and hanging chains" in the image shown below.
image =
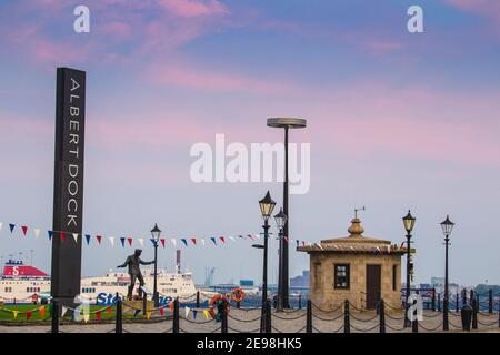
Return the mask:
{"type": "MultiPolygon", "coordinates": [[[[183,310],[180,312],[183,315],[183,310]]],[[[343,333],[343,314],[340,311],[322,312],[313,310],[312,325],[314,333],[343,333]]],[[[461,331],[460,314],[450,312],[450,332],[461,331]]],[[[474,332],[500,332],[498,314],[480,314],[478,317],[478,331],[474,332]]],[[[386,331],[388,333],[407,333],[411,328],[403,327],[403,313],[389,312],[386,314],[386,331]]],[[[359,332],[379,332],[379,316],[374,312],[351,313],[350,316],[351,333],[359,332]]],[[[260,310],[236,310],[231,308],[228,316],[228,327],[230,333],[244,332],[258,333],[260,327],[260,310]]],[[[170,333],[172,321],[150,323],[123,323],[124,333],[170,333]]],[[[61,325],[62,333],[112,333],[114,324],[71,324],[61,325]]],[[[188,318],[181,316],[180,331],[189,333],[211,333],[220,332],[220,323],[207,320],[200,312],[196,320],[192,313],[188,318]]],[[[442,313],[426,312],[424,318],[419,323],[419,332],[441,332],[442,313]]],[[[0,326],[0,333],[47,333],[50,326],[0,326]]],[[[272,332],[306,332],[306,310],[296,310],[292,312],[272,314],[272,332]]]]}

